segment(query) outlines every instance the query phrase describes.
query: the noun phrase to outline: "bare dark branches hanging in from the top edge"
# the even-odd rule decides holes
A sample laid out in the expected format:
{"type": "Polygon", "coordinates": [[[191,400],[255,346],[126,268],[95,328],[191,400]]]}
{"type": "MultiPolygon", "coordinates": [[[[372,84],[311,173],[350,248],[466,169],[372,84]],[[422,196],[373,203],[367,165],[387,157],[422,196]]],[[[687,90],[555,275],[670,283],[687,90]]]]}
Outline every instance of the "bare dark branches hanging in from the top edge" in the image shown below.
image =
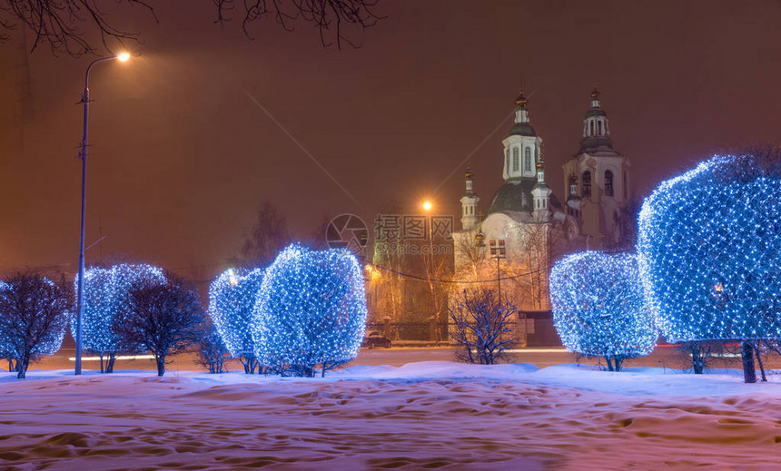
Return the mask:
{"type": "MultiPolygon", "coordinates": [[[[351,36],[377,23],[382,17],[374,13],[379,0],[244,0],[242,31],[252,39],[249,26],[264,17],[272,17],[287,31],[296,22],[314,25],[320,31],[321,44],[342,43],[357,47],[351,36]]],[[[154,15],[154,0],[114,0],[114,4],[143,8],[154,15]]],[[[215,23],[231,20],[234,0],[212,0],[215,23]]],[[[71,55],[91,54],[99,41],[108,51],[122,46],[125,41],[137,41],[138,34],[124,31],[109,22],[102,7],[106,0],[0,0],[0,29],[6,31],[21,24],[35,34],[33,50],[38,44],[48,43],[54,53],[71,55]]],[[[182,6],[183,13],[189,8],[182,6]]],[[[0,34],[0,40],[9,40],[0,34]]]]}

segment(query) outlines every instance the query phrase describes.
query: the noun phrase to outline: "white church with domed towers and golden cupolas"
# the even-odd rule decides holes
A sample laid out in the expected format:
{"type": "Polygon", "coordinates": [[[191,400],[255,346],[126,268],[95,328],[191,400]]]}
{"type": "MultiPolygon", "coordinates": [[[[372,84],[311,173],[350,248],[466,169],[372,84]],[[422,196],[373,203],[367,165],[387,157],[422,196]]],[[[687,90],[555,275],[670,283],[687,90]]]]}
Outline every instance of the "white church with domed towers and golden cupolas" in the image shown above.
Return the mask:
{"type": "Polygon", "coordinates": [[[545,177],[542,138],[521,92],[515,118],[502,140],[504,183],[480,211],[475,176],[468,169],[460,198],[461,230],[453,233],[456,280],[496,280],[519,309],[549,309],[548,273],[562,255],[611,250],[630,236],[627,158],[613,149],[608,115],[595,89],[583,119],[580,147],[563,164],[562,202],[545,177]]]}

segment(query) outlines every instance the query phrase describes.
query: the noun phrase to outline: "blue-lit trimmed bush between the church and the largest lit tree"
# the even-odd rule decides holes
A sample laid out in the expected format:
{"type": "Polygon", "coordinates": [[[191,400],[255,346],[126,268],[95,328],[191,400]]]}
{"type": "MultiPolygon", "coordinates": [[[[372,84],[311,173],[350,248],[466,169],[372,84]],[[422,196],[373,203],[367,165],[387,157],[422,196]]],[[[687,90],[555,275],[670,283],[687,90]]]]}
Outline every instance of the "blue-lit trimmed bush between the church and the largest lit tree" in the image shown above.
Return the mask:
{"type": "Polygon", "coordinates": [[[549,283],[553,323],[569,350],[605,357],[618,370],[654,349],[658,331],[634,255],[575,253],[553,267],[549,283]]]}

